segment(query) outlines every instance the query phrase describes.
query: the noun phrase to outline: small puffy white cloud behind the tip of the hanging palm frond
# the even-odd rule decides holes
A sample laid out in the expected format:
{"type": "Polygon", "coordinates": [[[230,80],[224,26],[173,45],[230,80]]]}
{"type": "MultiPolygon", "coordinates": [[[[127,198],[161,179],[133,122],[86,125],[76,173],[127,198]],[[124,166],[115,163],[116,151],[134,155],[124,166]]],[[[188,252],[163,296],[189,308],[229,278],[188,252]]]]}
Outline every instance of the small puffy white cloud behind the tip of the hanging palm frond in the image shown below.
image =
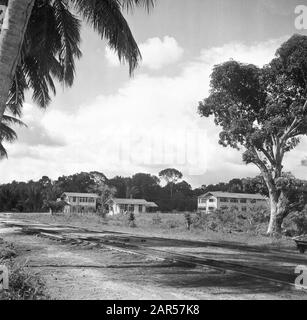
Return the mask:
{"type": "MultiPolygon", "coordinates": [[[[165,36],[160,38],[150,38],[145,43],[139,45],[142,54],[141,66],[152,70],[158,70],[169,64],[174,64],[183,55],[183,49],[176,39],[165,36]]],[[[111,66],[119,66],[118,56],[110,48],[106,48],[105,57],[111,66]]]]}

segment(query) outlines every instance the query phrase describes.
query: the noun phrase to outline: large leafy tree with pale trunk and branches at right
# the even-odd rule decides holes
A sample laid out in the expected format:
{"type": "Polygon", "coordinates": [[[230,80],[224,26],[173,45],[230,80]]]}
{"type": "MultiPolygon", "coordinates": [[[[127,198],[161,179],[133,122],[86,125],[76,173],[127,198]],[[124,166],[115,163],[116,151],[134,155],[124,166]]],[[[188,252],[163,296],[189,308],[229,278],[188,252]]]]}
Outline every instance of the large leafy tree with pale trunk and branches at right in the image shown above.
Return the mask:
{"type": "Polygon", "coordinates": [[[243,149],[243,161],[260,169],[270,199],[269,234],[281,232],[291,210],[283,160],[307,134],[306,84],[307,37],[294,35],[263,68],[233,60],[215,66],[210,95],[199,103],[201,116],[222,128],[219,143],[243,149]]]}

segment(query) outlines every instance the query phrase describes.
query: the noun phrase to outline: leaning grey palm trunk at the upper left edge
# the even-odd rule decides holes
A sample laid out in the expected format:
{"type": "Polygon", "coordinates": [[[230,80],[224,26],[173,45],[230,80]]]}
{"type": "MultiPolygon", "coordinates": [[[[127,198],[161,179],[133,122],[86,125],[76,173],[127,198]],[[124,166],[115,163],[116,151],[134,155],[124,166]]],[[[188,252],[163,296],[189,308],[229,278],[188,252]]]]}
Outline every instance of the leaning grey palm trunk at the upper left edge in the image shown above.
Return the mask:
{"type": "Polygon", "coordinates": [[[35,0],[9,0],[0,33],[0,123],[35,0]]]}

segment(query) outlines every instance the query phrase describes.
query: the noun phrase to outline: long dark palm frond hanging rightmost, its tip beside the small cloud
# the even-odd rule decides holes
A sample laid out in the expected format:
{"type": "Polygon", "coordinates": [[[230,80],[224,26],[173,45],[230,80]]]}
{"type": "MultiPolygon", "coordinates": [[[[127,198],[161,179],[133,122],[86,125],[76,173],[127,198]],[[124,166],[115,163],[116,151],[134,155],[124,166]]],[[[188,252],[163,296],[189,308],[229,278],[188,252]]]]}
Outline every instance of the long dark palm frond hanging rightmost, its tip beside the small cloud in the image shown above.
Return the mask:
{"type": "Polygon", "coordinates": [[[128,62],[133,73],[141,59],[141,53],[127,21],[122,15],[118,0],[71,0],[77,12],[117,52],[121,62],[128,62]]]}

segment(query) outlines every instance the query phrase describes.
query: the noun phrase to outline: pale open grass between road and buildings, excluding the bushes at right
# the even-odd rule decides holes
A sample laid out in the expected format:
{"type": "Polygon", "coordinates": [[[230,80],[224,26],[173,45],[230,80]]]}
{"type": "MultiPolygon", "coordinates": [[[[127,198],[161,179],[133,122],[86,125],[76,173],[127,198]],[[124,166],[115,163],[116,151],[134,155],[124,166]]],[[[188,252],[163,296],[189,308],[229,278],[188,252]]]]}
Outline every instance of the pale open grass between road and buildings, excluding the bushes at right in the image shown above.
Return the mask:
{"type": "MultiPolygon", "coordinates": [[[[196,215],[194,214],[194,216],[196,215]]],[[[96,214],[50,215],[46,213],[16,213],[13,214],[13,217],[42,223],[65,224],[90,228],[95,231],[107,229],[146,236],[200,241],[226,241],[257,246],[259,248],[296,250],[295,243],[291,238],[283,237],[281,239],[275,239],[268,237],[265,235],[265,229],[263,230],[263,234],[260,235],[255,232],[216,232],[208,228],[195,228],[193,226],[191,227],[191,230],[187,230],[183,213],[151,213],[136,215],[136,226],[134,228],[131,228],[128,225],[127,219],[123,216],[107,216],[106,218],[102,218],[96,214]],[[160,218],[159,223],[156,222],[157,217],[160,218]]]]}

